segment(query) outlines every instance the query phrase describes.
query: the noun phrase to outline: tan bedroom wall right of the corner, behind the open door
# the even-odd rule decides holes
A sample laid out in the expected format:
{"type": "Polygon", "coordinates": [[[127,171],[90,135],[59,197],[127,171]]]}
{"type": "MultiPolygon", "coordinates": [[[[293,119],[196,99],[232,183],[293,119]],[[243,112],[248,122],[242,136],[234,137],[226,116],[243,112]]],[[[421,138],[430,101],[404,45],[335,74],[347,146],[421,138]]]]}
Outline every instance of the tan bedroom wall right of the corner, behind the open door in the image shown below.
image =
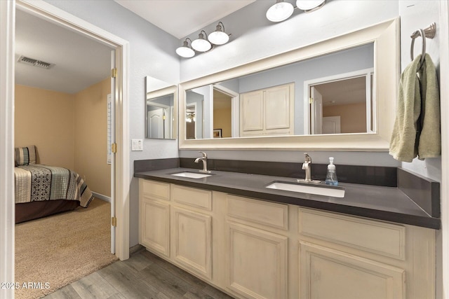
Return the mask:
{"type": "Polygon", "coordinates": [[[95,193],[111,196],[111,165],[107,164],[106,78],[74,95],[74,170],[95,193]]]}

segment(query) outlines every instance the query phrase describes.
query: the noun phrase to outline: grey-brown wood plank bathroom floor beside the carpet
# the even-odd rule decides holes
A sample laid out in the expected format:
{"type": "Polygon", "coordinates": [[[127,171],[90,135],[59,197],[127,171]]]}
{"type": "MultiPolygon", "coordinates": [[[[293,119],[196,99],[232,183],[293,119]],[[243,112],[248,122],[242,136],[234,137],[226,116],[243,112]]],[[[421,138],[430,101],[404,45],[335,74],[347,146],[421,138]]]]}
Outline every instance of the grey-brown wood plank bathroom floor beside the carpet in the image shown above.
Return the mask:
{"type": "Polygon", "coordinates": [[[134,253],[58,291],[46,299],[232,298],[149,251],[134,253]]]}

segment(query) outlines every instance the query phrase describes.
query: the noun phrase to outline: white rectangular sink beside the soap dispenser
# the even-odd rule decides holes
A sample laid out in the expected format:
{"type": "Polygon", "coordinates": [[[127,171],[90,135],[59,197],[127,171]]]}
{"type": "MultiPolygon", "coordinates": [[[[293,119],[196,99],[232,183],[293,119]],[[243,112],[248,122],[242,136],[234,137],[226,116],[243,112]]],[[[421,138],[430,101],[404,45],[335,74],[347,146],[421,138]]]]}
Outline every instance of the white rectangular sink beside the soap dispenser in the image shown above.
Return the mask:
{"type": "Polygon", "coordinates": [[[344,188],[333,186],[315,186],[313,184],[288,183],[281,181],[274,181],[266,188],[293,191],[300,193],[309,193],[314,195],[324,195],[332,197],[344,197],[344,188]]]}

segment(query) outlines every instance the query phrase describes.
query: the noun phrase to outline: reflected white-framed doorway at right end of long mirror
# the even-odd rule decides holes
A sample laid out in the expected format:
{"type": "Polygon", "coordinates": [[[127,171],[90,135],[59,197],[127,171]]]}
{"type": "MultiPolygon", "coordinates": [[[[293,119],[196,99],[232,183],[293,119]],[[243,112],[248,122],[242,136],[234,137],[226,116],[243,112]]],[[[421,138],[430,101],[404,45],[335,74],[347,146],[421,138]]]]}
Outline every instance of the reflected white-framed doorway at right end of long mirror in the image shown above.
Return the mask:
{"type": "Polygon", "coordinates": [[[304,91],[309,106],[305,132],[373,132],[373,69],[304,81],[304,91]]]}

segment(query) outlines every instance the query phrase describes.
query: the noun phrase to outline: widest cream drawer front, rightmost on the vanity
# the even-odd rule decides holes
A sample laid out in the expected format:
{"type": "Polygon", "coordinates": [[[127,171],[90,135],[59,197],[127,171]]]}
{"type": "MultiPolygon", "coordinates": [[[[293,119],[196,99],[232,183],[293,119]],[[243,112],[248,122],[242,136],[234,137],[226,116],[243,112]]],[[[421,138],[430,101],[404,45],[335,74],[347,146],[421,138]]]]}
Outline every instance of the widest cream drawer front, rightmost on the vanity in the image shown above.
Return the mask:
{"type": "Polygon", "coordinates": [[[404,226],[307,209],[299,219],[302,235],[405,260],[404,226]]]}

